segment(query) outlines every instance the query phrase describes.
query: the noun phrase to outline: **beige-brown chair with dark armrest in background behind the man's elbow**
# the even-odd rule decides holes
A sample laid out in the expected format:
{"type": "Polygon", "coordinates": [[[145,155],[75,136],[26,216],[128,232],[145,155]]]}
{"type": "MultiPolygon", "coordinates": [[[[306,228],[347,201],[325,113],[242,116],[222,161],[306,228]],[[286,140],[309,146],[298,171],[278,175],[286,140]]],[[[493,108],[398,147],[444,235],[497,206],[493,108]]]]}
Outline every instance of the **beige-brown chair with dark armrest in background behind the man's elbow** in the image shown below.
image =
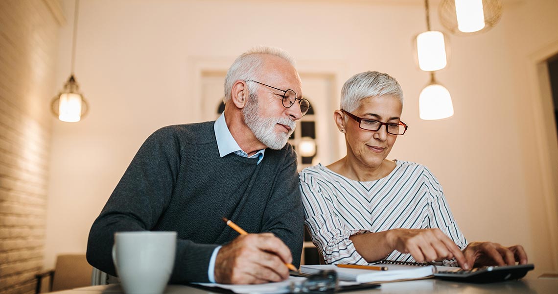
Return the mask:
{"type": "Polygon", "coordinates": [[[61,254],[56,257],[54,269],[36,274],[36,293],[41,293],[45,277],[49,277],[49,292],[85,287],[91,284],[93,267],[85,254],[61,254]]]}

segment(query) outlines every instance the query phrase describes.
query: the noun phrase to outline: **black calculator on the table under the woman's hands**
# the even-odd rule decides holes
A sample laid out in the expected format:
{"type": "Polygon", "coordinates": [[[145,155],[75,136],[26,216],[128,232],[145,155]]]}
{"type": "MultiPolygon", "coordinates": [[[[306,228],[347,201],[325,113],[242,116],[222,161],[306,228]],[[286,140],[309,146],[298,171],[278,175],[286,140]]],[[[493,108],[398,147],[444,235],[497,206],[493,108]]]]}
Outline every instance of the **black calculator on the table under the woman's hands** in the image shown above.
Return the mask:
{"type": "Polygon", "coordinates": [[[434,276],[439,279],[446,279],[457,282],[472,283],[493,283],[508,281],[511,279],[521,279],[528,271],[535,268],[533,264],[505,265],[501,267],[480,267],[473,269],[461,269],[449,267],[439,267],[434,276]]]}

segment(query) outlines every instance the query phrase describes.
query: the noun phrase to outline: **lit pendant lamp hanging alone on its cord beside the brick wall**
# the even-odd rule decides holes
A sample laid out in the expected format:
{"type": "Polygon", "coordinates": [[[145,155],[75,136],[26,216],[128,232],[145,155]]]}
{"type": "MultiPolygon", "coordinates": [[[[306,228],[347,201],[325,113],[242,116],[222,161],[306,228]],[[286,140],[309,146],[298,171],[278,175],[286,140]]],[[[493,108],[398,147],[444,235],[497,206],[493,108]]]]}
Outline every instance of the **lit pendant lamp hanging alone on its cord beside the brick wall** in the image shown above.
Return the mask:
{"type": "Polygon", "coordinates": [[[72,37],[72,51],[71,51],[71,74],[68,82],[64,84],[62,91],[57,94],[50,103],[51,111],[59,120],[65,122],[78,122],[83,118],[89,107],[85,101],[83,94],[79,91],[79,84],[76,82],[74,74],[75,65],[75,48],[76,48],[76,35],[78,33],[78,11],[79,0],[75,1],[74,12],[74,34],[72,37]]]}

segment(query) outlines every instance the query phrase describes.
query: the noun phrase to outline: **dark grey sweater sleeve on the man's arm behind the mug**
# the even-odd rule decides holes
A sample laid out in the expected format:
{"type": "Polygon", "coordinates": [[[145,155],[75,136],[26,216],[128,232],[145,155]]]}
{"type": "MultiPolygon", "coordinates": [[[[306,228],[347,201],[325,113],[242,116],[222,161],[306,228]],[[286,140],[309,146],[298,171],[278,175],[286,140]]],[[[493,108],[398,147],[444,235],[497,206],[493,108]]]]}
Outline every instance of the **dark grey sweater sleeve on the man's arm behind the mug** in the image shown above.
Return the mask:
{"type": "MultiPolygon", "coordinates": [[[[171,128],[148,137],[91,227],[86,255],[93,267],[116,275],[114,233],[152,230],[157,225],[169,206],[179,166],[180,144],[171,128]]],[[[171,282],[208,281],[209,259],[216,247],[177,240],[171,282]]]]}

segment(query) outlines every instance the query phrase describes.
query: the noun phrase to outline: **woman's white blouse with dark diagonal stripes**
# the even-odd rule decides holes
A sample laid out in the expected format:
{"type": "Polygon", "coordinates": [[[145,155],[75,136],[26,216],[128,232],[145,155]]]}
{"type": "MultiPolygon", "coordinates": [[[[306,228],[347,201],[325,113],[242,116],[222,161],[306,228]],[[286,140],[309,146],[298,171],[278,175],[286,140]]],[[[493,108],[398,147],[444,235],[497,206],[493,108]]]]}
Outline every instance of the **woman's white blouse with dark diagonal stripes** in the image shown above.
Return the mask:
{"type": "MultiPolygon", "coordinates": [[[[397,228],[439,228],[461,250],[465,237],[446,203],[440,183],[424,165],[396,160],[388,176],[359,182],[324,165],[300,173],[305,225],[326,263],[367,264],[349,236],[397,228]]],[[[394,250],[386,259],[414,262],[394,250]]],[[[445,260],[445,265],[456,265],[445,260]]]]}

